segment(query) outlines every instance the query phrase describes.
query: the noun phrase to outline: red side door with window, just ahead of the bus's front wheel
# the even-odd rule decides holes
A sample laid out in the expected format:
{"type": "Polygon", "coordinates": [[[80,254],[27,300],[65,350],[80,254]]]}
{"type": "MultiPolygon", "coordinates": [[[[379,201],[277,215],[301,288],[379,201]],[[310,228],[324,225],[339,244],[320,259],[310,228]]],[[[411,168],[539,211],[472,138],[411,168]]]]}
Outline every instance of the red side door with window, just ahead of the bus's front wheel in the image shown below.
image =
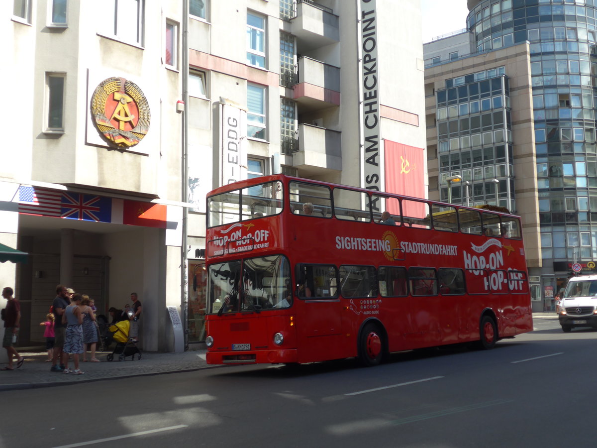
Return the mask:
{"type": "Polygon", "coordinates": [[[323,361],[347,355],[341,347],[342,306],[334,265],[298,264],[296,295],[298,362],[323,361]]]}

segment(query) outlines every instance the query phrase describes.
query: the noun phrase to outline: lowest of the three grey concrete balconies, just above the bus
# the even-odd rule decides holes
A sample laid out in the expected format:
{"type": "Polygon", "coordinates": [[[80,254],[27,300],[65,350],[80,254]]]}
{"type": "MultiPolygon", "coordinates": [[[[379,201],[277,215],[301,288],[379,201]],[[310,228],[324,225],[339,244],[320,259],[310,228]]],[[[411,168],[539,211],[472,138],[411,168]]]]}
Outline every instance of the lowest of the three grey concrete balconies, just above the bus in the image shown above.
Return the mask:
{"type": "Polygon", "coordinates": [[[340,131],[298,125],[298,148],[293,152],[293,166],[301,176],[315,176],[329,170],[342,170],[340,131]]]}

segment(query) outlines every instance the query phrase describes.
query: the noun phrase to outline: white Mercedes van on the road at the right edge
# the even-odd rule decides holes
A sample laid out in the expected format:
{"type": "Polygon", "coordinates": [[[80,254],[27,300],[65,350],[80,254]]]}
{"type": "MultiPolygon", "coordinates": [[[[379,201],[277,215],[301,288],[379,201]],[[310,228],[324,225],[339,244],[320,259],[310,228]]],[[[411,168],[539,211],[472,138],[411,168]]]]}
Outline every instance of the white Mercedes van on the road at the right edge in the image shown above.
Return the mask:
{"type": "Polygon", "coordinates": [[[568,280],[558,318],[564,332],[574,327],[597,329],[597,275],[579,275],[568,280]]]}

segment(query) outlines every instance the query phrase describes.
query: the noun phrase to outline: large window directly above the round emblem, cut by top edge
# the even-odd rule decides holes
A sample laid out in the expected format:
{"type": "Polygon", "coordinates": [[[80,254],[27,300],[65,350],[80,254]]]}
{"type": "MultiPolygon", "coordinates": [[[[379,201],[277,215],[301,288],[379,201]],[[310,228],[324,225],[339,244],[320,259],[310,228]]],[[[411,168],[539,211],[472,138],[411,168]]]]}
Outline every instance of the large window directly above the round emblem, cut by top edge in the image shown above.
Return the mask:
{"type": "Polygon", "coordinates": [[[107,34],[119,41],[143,45],[144,0],[106,0],[107,34]],[[112,16],[113,14],[113,16],[112,16]]]}

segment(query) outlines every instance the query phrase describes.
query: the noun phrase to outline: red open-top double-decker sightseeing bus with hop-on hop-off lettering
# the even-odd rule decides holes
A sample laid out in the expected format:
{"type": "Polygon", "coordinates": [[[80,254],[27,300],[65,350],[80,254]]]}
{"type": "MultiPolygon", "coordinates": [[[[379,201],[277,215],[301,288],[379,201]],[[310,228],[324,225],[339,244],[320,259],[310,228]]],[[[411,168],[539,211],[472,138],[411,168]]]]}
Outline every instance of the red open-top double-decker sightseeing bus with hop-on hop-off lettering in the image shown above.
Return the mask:
{"type": "Polygon", "coordinates": [[[533,329],[519,217],[487,207],[257,177],[208,195],[206,261],[209,364],[374,366],[533,329]]]}

